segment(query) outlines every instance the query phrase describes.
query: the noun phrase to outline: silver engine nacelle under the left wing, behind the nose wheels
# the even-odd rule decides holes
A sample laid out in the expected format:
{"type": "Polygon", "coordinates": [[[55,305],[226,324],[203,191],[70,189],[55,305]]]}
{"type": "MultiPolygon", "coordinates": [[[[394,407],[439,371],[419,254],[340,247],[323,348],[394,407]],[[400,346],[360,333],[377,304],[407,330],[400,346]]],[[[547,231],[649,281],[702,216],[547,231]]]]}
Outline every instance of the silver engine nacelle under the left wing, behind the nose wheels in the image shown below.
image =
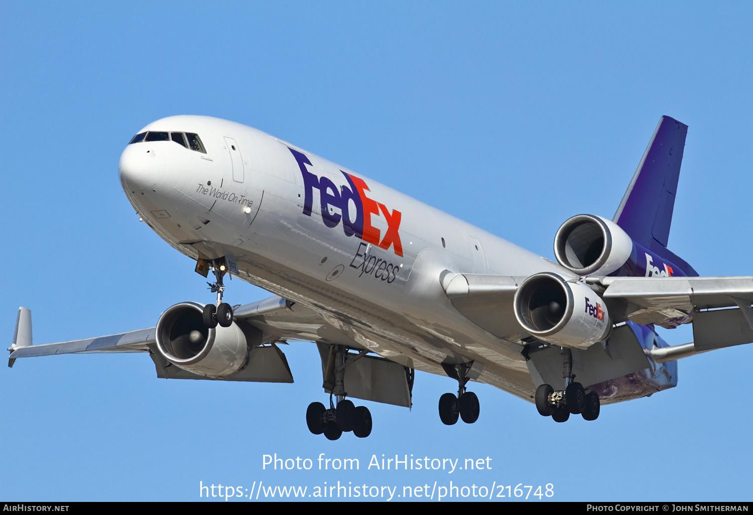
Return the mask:
{"type": "Polygon", "coordinates": [[[206,328],[203,307],[181,302],[163,312],[157,321],[157,349],[176,367],[201,376],[227,377],[248,361],[245,334],[235,322],[229,328],[206,328]]]}

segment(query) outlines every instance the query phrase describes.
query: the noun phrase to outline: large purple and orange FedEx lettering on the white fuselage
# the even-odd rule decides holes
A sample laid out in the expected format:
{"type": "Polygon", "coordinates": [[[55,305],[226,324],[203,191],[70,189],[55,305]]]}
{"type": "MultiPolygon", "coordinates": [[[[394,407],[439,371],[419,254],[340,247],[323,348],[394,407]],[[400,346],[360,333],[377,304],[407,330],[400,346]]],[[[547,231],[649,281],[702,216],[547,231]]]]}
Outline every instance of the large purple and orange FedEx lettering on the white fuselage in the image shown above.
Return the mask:
{"type": "Polygon", "coordinates": [[[322,208],[322,221],[327,227],[337,227],[343,222],[343,231],[346,236],[356,236],[364,242],[378,245],[385,250],[392,246],[395,254],[403,255],[403,245],[400,241],[401,212],[393,209],[390,212],[382,203],[370,199],[366,192],[370,191],[366,182],[358,177],[353,177],[349,173],[340,172],[345,175],[346,181],[350,187],[341,186],[337,190],[334,182],[327,177],[319,177],[306,168],[306,165],[313,166],[306,154],[288,148],[293,157],[295,157],[300,168],[300,174],[303,176],[303,214],[311,216],[311,209],[314,202],[314,188],[319,190],[319,200],[322,208]],[[349,203],[355,204],[355,218],[350,218],[349,203]],[[340,213],[330,212],[330,208],[340,209],[340,213]],[[377,227],[371,225],[372,215],[384,215],[387,221],[387,230],[384,234],[377,227]]]}

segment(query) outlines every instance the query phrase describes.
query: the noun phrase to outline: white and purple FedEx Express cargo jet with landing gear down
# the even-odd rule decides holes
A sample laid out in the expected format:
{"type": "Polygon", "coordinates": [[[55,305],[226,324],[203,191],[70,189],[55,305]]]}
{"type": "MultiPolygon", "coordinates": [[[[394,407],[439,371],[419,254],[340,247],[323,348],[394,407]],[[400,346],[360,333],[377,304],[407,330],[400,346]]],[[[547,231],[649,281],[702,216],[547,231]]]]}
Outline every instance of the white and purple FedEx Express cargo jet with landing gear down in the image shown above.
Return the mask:
{"type": "MultiPolygon", "coordinates": [[[[32,342],[21,307],[18,358],[146,352],[157,376],[292,382],[279,344],[315,343],[328,405],[306,425],[367,437],[351,399],[411,407],[416,370],[449,376],[441,422],[474,423],[469,382],[534,404],[555,422],[677,385],[677,360],[753,342],[753,277],[700,277],[667,241],[687,126],[663,116],[611,219],[575,215],[554,236],[556,262],[240,123],[172,116],[120,156],[140,220],[211,271],[211,301],[169,306],[157,325],[32,342]],[[270,291],[223,301],[225,276],[270,291]],[[669,346],[656,326],[692,324],[669,346]]],[[[326,399],[325,399],[326,400],[326,399]]]]}

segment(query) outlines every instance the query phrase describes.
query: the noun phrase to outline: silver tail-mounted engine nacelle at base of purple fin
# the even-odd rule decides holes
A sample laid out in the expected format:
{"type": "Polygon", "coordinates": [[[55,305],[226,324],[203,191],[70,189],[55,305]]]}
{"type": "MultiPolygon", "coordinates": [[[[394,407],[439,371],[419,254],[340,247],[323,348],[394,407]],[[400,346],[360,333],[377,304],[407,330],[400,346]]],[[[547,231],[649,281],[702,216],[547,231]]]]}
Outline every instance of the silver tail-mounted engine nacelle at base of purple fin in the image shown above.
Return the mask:
{"type": "Polygon", "coordinates": [[[633,253],[633,239],[611,220],[593,215],[569,218],[554,236],[554,255],[562,267],[580,276],[606,276],[633,253]]]}

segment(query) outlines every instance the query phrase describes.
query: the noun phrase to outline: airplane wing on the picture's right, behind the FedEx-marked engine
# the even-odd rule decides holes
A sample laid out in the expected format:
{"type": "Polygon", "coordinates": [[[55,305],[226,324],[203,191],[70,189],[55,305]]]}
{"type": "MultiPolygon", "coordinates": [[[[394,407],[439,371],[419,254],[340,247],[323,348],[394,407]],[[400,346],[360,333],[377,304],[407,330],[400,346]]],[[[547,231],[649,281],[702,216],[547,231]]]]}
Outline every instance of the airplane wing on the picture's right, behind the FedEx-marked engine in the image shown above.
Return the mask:
{"type": "MultiPolygon", "coordinates": [[[[440,276],[450,302],[466,318],[499,337],[511,335],[518,340],[527,334],[515,319],[513,300],[524,279],[448,271],[440,276]]],[[[573,280],[578,279],[568,282],[573,280]]],[[[633,321],[674,328],[692,321],[694,343],[668,356],[680,358],[753,343],[753,276],[602,276],[583,280],[605,300],[613,323],[633,321]]]]}

